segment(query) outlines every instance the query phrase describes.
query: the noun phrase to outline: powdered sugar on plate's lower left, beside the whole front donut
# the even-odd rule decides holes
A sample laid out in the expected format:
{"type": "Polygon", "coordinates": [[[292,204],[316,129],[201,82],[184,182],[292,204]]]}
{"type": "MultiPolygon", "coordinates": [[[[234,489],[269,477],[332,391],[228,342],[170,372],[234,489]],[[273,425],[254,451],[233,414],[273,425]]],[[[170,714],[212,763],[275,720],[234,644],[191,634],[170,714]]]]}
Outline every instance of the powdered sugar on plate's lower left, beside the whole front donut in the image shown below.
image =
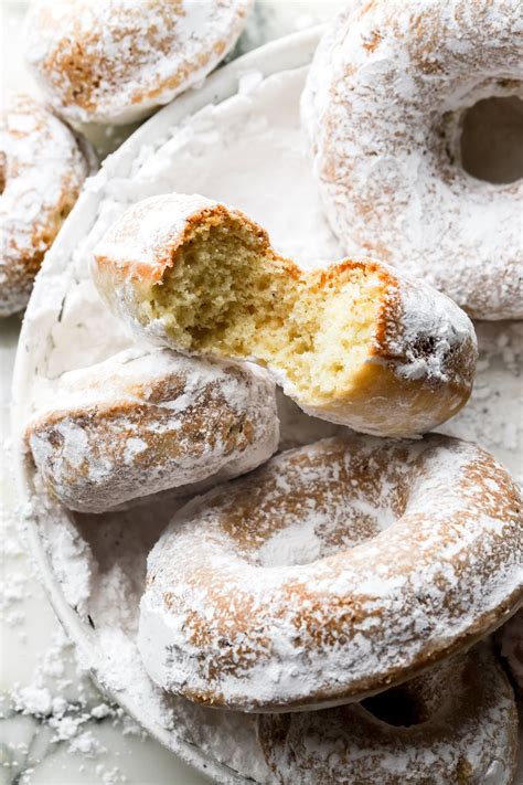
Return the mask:
{"type": "MultiPolygon", "coordinates": [[[[151,682],[138,654],[138,607],[147,553],[177,502],[156,502],[147,508],[105,513],[103,526],[97,517],[70,516],[58,506],[50,507],[49,500],[45,505],[47,510],[38,515],[38,520],[51,556],[61,547],[61,529],[73,522],[78,535],[88,543],[86,559],[92,590],[77,606],[76,614],[94,637],[87,647],[79,647],[82,666],[94,670],[100,685],[131,717],[139,718],[142,725],[184,760],[199,764],[201,757],[194,749],[198,744],[212,761],[226,764],[225,768],[214,770],[221,782],[237,782],[228,766],[237,767],[257,782],[266,782],[254,721],[246,722],[243,714],[233,712],[222,722],[213,711],[170,698],[151,682]]],[[[64,593],[74,593],[75,586],[76,576],[71,571],[64,577],[64,593]]],[[[207,762],[209,771],[213,768],[207,762]]]]}

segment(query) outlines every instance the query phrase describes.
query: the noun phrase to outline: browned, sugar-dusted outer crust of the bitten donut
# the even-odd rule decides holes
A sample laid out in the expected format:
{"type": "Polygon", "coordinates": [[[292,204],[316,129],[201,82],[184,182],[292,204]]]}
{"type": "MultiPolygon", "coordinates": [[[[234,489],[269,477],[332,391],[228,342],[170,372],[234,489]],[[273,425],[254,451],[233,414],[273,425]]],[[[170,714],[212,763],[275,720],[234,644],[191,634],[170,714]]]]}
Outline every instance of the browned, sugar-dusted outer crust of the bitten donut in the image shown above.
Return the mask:
{"type": "MultiPolygon", "coordinates": [[[[179,263],[177,254],[190,242],[194,229],[213,222],[228,222],[231,232],[235,227],[247,231],[259,259],[273,264],[275,275],[281,269],[289,279],[309,275],[320,303],[328,297],[323,279],[331,276],[335,282],[345,268],[362,268],[380,280],[380,309],[367,353],[345,394],[338,391],[317,402],[287,378],[284,368],[268,365],[286,394],[306,412],[364,433],[413,436],[449,418],[465,404],[476,369],[476,333],[467,315],[448,297],[370,258],[341,259],[325,265],[324,272],[302,274],[295,262],[275,254],[262,226],[242,212],[198,194],[163,194],[134,204],[94,251],[98,291],[138,338],[188,351],[172,338],[162,317],[151,311],[150,301],[153,287],[179,263]]],[[[258,358],[238,354],[235,359],[258,358]]]]}

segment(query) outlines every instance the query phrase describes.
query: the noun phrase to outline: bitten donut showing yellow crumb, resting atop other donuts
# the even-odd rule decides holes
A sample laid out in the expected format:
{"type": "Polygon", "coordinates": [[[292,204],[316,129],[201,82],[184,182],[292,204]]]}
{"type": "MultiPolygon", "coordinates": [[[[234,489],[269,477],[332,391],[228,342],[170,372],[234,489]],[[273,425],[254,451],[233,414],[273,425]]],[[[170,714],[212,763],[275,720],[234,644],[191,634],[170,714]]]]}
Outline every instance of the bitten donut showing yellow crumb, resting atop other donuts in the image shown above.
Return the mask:
{"type": "Polygon", "coordinates": [[[203,197],[131,206],[95,248],[94,278],[141,337],[254,359],[308,414],[356,431],[412,436],[470,394],[476,336],[447,297],[373,259],[305,272],[203,197]]]}

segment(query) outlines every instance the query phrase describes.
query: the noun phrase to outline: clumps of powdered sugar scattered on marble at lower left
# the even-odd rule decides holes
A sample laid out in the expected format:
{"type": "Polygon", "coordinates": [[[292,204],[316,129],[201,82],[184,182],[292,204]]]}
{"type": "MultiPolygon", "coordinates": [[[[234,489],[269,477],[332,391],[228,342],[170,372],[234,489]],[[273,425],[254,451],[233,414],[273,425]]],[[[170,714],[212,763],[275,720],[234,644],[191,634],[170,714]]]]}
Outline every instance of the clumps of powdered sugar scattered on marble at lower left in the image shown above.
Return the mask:
{"type": "MultiPolygon", "coordinates": [[[[12,447],[8,441],[2,444],[2,452],[6,465],[12,465],[12,447]]],[[[10,475],[6,479],[13,482],[10,475]]],[[[18,636],[26,649],[26,634],[20,635],[19,630],[32,618],[32,603],[44,602],[44,598],[33,583],[34,564],[25,558],[26,542],[21,522],[28,510],[15,501],[13,505],[8,499],[4,501],[7,503],[1,507],[3,548],[0,612],[12,646],[17,647],[14,641],[18,636]]],[[[60,532],[57,545],[64,550],[60,532]]],[[[65,558],[68,555],[66,548],[65,558]]],[[[70,561],[66,580],[71,584],[68,596],[73,598],[81,595],[85,600],[88,588],[82,580],[78,581],[77,566],[74,560],[70,561]]],[[[142,731],[120,708],[102,699],[93,687],[90,672],[79,665],[71,640],[57,624],[53,629],[47,644],[39,638],[41,649],[30,680],[21,675],[20,681],[13,683],[10,692],[2,694],[0,720],[3,771],[13,781],[23,775],[21,782],[30,782],[32,772],[47,755],[58,749],[66,749],[85,759],[102,759],[96,765],[99,782],[124,783],[125,775],[117,767],[109,768],[103,761],[107,750],[93,729],[105,721],[124,733],[142,736],[142,731]]],[[[39,635],[38,630],[39,622],[34,617],[32,635],[39,635]]]]}

